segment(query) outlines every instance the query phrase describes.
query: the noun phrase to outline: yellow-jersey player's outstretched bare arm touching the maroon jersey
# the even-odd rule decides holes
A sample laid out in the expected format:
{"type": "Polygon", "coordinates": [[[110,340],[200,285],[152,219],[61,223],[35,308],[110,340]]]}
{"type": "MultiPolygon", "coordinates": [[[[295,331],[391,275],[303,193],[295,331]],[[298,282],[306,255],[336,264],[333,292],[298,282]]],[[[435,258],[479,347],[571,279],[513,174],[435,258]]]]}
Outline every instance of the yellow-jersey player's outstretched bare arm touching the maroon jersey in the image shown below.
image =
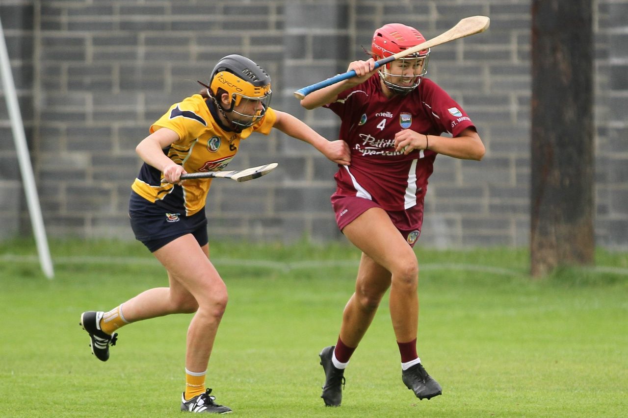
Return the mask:
{"type": "Polygon", "coordinates": [[[280,112],[279,110],[275,110],[275,113],[277,114],[277,120],[273,127],[286,135],[307,142],[336,164],[350,165],[351,155],[347,142],[340,140],[327,141],[327,139],[307,126],[305,122],[300,121],[293,115],[280,112]]]}

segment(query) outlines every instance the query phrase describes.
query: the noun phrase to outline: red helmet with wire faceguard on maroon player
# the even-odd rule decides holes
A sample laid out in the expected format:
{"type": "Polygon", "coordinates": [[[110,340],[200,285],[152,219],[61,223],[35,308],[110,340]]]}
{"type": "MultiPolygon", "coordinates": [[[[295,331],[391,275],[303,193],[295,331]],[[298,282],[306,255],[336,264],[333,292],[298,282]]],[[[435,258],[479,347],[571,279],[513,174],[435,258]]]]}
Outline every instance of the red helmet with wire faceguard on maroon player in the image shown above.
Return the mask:
{"type": "MultiPolygon", "coordinates": [[[[408,48],[412,48],[413,46],[419,45],[420,43],[425,42],[425,38],[421,33],[414,29],[412,26],[406,26],[401,23],[389,23],[384,24],[381,28],[377,29],[373,34],[373,41],[371,44],[371,53],[375,60],[379,60],[381,58],[386,58],[387,56],[394,55],[398,52],[407,50],[408,48]]],[[[391,77],[400,77],[401,74],[393,74],[390,73],[389,70],[391,68],[391,63],[387,63],[384,67],[385,69],[379,70],[379,75],[381,76],[384,83],[396,93],[399,94],[408,94],[414,88],[416,88],[419,83],[421,83],[421,78],[427,73],[428,67],[428,58],[430,56],[430,49],[419,51],[418,53],[414,53],[411,55],[406,55],[399,60],[418,60],[418,74],[413,75],[412,80],[408,83],[403,84],[395,84],[391,82],[391,77]]],[[[405,77],[404,77],[405,78],[405,77]]]]}

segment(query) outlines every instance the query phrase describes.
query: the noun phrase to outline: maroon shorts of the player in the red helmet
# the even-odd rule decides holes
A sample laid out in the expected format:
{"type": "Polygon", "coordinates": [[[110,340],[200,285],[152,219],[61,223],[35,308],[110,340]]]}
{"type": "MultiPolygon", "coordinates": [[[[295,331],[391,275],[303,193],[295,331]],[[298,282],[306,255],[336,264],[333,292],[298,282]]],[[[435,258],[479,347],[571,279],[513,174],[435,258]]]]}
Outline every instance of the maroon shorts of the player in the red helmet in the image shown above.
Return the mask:
{"type": "MultiPolygon", "coordinates": [[[[336,213],[336,223],[342,231],[355,218],[371,208],[381,208],[372,200],[357,196],[332,195],[332,208],[336,213]]],[[[382,208],[383,209],[383,208],[382,208]]],[[[423,205],[414,205],[407,210],[386,210],[393,225],[401,232],[411,247],[418,239],[423,225],[423,205]]]]}

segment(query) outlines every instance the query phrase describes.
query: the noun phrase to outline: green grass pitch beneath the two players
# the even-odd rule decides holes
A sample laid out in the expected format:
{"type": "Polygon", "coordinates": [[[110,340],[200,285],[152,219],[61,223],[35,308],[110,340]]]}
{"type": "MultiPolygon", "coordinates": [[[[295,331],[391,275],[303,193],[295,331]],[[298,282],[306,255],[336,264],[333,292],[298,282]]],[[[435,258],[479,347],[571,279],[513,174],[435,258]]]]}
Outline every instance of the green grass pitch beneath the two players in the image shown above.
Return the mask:
{"type": "MultiPolygon", "coordinates": [[[[136,243],[57,242],[48,281],[26,257],[34,248],[0,244],[0,416],[183,416],[191,315],[122,328],[106,363],[78,325],[82,311],[166,286],[156,260],[136,243]]],[[[230,297],[208,368],[217,402],[243,418],[625,416],[628,254],[598,252],[604,268],[532,281],[524,250],[416,253],[418,351],[443,395],[419,401],[401,382],[385,298],[345,372],[342,407],[325,408],[318,353],[335,343],[359,254],[224,244],[212,247],[230,297]]]]}

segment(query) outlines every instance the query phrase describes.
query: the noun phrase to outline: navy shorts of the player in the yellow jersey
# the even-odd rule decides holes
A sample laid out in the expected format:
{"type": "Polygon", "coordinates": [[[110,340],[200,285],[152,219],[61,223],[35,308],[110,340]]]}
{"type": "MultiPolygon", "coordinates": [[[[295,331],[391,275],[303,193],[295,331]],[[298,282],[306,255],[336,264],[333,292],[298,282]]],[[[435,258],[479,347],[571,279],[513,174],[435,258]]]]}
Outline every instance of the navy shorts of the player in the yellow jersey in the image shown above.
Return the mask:
{"type": "Polygon", "coordinates": [[[129,218],[135,238],[146,245],[150,252],[188,233],[194,235],[201,247],[209,242],[205,208],[189,217],[185,213],[168,213],[166,209],[131,191],[129,218]]]}

